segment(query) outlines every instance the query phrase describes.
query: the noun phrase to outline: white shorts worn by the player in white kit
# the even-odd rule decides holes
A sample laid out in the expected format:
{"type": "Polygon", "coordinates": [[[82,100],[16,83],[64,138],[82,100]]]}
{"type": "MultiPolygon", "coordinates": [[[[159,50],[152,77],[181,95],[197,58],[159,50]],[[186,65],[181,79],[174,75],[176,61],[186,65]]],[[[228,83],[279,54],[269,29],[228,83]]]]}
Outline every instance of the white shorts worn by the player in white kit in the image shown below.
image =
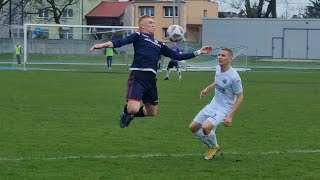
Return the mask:
{"type": "Polygon", "coordinates": [[[227,115],[227,113],[207,105],[197,114],[194,121],[199,124],[203,124],[205,120],[208,120],[214,125],[214,127],[217,127],[220,123],[224,123],[227,115]]]}

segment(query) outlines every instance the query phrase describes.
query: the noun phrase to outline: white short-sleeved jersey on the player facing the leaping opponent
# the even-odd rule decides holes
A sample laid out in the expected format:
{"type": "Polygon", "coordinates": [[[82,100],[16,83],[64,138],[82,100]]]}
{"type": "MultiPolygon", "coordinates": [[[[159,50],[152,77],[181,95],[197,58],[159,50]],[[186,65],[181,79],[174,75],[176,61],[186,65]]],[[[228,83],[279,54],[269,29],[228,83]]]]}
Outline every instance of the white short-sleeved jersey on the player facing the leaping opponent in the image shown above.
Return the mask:
{"type": "Polygon", "coordinates": [[[236,100],[236,94],[243,91],[241,78],[234,68],[230,67],[229,70],[221,72],[218,65],[214,81],[215,96],[209,106],[229,114],[236,100]]]}

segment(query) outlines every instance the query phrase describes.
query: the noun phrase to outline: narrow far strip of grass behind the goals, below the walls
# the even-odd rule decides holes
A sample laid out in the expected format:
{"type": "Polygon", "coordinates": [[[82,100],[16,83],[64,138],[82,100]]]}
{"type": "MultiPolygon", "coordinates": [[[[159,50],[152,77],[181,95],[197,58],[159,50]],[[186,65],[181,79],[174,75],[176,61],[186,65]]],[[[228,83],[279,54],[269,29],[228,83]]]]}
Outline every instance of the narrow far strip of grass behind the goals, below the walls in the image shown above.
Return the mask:
{"type": "MultiPolygon", "coordinates": [[[[100,53],[98,51],[98,53],[100,53]]],[[[23,59],[23,58],[22,58],[23,59]]],[[[133,56],[130,54],[115,54],[113,57],[113,64],[131,64],[132,63],[133,56]]],[[[203,64],[203,66],[215,66],[217,57],[213,57],[210,55],[203,55],[198,56],[192,59],[189,59],[186,63],[188,65],[192,64],[203,64]]],[[[320,60],[314,60],[314,61],[265,61],[266,59],[262,59],[262,57],[246,57],[244,55],[239,55],[236,57],[236,59],[233,60],[233,66],[234,67],[247,67],[247,68],[257,68],[257,67],[278,67],[278,68],[306,68],[306,69],[320,69],[320,60]],[[263,61],[264,60],[264,61],[263,61]]],[[[271,59],[270,59],[271,60],[271,59]]],[[[0,62],[9,62],[7,66],[11,66],[11,62],[15,62],[15,58],[13,54],[6,53],[6,54],[0,54],[0,62]]],[[[163,64],[168,63],[169,58],[163,58],[163,61],[161,61],[163,64]]],[[[48,67],[48,64],[39,64],[39,63],[91,63],[91,64],[106,64],[106,59],[104,55],[102,54],[102,51],[100,54],[88,54],[88,55],[74,55],[74,54],[28,54],[28,62],[27,67],[48,67]],[[38,63],[38,64],[32,64],[32,63],[38,63]]],[[[62,68],[61,65],[50,65],[51,67],[57,67],[62,68]]],[[[180,66],[184,68],[185,64],[180,63],[180,66]]],[[[74,68],[74,69],[87,69],[88,66],[85,66],[82,68],[79,65],[65,65],[63,68],[74,68]]],[[[127,68],[127,67],[124,67],[127,68]]],[[[93,69],[96,69],[96,67],[93,67],[93,69]]]]}

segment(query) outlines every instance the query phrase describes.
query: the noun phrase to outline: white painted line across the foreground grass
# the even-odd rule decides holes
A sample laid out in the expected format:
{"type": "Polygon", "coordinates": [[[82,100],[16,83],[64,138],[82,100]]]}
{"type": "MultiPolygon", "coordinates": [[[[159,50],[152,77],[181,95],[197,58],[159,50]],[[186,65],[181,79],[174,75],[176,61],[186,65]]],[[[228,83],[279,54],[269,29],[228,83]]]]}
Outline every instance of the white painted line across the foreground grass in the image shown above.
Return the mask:
{"type": "MultiPolygon", "coordinates": [[[[223,154],[231,155],[248,155],[248,154],[310,154],[310,153],[320,153],[320,149],[314,150],[288,150],[288,151],[267,151],[267,152],[223,152],[223,154]]],[[[50,161],[50,160],[68,160],[68,159],[118,159],[118,158],[156,158],[156,157],[187,157],[187,156],[203,156],[204,154],[132,154],[132,155],[96,155],[96,156],[61,156],[61,157],[21,157],[21,158],[5,158],[0,157],[0,161],[30,161],[30,160],[40,160],[40,161],[50,161]]]]}

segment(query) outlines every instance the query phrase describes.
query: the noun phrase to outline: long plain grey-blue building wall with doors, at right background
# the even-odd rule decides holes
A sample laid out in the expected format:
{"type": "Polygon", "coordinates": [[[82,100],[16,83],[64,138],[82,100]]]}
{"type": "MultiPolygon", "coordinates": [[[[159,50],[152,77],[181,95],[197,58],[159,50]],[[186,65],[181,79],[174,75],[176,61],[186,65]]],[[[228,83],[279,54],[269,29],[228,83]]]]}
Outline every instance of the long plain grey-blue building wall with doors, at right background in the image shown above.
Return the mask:
{"type": "Polygon", "coordinates": [[[203,44],[248,46],[249,56],[320,59],[320,20],[204,19],[203,44]]]}

